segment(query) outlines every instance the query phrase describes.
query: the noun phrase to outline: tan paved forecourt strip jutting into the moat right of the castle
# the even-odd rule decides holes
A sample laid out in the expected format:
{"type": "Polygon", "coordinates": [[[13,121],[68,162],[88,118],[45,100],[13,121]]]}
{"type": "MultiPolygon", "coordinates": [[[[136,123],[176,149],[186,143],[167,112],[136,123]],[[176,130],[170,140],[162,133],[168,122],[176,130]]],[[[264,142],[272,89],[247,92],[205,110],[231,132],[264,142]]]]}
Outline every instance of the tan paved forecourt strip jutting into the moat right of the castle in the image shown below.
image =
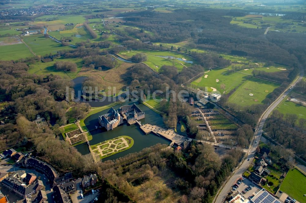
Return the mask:
{"type": "Polygon", "coordinates": [[[143,126],[140,126],[140,129],[145,134],[154,133],[160,137],[164,137],[167,140],[174,142],[177,145],[182,144],[186,140],[186,137],[174,132],[174,129],[167,130],[165,128],[151,124],[144,124],[143,126]]]}

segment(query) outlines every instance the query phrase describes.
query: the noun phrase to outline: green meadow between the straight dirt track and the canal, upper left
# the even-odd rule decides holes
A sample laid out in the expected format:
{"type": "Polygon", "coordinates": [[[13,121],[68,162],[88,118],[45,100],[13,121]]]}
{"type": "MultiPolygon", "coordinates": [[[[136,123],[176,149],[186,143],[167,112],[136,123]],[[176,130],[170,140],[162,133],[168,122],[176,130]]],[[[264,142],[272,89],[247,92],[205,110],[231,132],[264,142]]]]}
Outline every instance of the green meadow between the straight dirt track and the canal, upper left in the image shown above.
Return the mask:
{"type": "Polygon", "coordinates": [[[36,55],[55,54],[59,50],[71,49],[69,46],[63,46],[50,38],[44,37],[42,34],[36,34],[23,37],[24,42],[32,49],[36,55]]]}

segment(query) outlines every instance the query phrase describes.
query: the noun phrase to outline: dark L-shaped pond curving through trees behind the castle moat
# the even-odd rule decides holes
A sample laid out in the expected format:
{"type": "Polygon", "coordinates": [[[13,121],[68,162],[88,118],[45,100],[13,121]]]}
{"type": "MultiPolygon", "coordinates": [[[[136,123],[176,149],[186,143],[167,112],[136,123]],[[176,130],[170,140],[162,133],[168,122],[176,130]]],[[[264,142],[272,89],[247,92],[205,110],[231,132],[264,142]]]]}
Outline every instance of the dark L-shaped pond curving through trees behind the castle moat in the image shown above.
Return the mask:
{"type": "Polygon", "coordinates": [[[105,106],[105,105],[109,105],[111,103],[114,103],[116,101],[118,101],[118,97],[121,96],[123,98],[126,97],[125,93],[122,93],[116,97],[106,97],[106,96],[103,96],[102,94],[99,94],[99,97],[103,98],[101,101],[95,101],[95,100],[92,100],[92,101],[86,101],[86,100],[83,100],[81,98],[81,95],[83,94],[83,91],[82,91],[82,82],[83,80],[87,78],[87,77],[77,77],[77,78],[74,78],[72,81],[74,83],[74,86],[73,86],[73,89],[74,89],[74,92],[75,92],[75,98],[80,98],[80,102],[86,102],[88,103],[91,107],[100,107],[100,106],[105,106]]]}

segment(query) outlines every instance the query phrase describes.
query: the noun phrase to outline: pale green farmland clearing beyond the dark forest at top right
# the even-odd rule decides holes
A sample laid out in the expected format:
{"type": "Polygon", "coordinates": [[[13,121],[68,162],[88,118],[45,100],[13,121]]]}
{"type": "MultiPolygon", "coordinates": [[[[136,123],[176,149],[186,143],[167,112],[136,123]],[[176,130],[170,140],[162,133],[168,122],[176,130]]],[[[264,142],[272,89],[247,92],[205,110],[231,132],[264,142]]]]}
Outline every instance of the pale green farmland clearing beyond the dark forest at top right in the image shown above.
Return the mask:
{"type": "Polygon", "coordinates": [[[271,30],[286,32],[306,31],[306,27],[303,26],[304,22],[284,20],[281,16],[247,15],[244,17],[235,17],[230,23],[256,29],[265,29],[266,27],[272,27],[271,30]]]}

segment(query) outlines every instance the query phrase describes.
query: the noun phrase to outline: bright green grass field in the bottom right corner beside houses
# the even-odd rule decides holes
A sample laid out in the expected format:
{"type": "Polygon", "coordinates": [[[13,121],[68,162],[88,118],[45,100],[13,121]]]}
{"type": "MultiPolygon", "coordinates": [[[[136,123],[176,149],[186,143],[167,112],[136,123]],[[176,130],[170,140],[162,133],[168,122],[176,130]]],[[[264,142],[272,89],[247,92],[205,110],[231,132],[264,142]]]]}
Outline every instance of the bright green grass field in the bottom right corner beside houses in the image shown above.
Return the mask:
{"type": "Polygon", "coordinates": [[[289,170],[285,177],[280,190],[287,193],[290,197],[301,203],[306,202],[306,197],[303,197],[306,191],[306,176],[297,169],[289,170]]]}

